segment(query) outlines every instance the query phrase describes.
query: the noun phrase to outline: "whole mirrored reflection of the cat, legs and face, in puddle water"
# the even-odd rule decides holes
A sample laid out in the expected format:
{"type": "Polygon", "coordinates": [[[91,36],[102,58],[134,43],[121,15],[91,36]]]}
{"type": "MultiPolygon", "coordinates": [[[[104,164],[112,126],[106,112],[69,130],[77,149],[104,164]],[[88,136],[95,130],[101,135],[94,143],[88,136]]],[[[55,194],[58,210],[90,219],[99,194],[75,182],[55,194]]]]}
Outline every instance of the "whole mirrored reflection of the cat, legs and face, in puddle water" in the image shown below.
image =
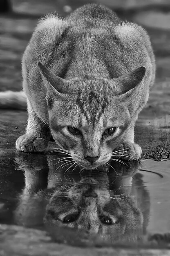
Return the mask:
{"type": "Polygon", "coordinates": [[[141,193],[139,162],[112,164],[109,173],[104,168],[79,173],[78,167],[74,172],[73,168],[66,172],[68,166],[60,169],[58,159],[18,154],[25,189],[15,211],[16,222],[32,227],[43,220],[48,226],[85,229],[106,240],[136,240],[146,223],[142,207],[148,202],[148,193],[141,193]]]}

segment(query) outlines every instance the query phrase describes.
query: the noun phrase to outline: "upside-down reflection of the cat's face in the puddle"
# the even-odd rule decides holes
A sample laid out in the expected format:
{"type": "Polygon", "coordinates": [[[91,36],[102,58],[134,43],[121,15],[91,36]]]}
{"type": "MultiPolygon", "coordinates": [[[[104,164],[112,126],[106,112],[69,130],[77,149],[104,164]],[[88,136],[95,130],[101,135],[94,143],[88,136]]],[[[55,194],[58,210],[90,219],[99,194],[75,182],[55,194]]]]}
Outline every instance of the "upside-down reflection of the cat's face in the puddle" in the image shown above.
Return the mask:
{"type": "Polygon", "coordinates": [[[119,240],[123,234],[139,229],[142,217],[130,198],[116,196],[98,184],[80,183],[55,190],[46,208],[45,222],[119,240]]]}

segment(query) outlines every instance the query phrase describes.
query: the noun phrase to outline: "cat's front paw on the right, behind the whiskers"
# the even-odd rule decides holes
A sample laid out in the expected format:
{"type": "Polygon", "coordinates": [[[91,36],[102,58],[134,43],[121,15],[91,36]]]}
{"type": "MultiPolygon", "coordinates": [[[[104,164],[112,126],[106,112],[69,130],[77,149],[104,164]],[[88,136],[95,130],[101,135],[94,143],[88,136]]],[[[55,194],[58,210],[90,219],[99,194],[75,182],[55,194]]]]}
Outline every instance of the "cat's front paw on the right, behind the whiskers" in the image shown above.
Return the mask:
{"type": "Polygon", "coordinates": [[[112,152],[112,158],[120,158],[125,160],[138,160],[141,158],[141,147],[132,142],[122,142],[118,148],[115,148],[112,152]]]}

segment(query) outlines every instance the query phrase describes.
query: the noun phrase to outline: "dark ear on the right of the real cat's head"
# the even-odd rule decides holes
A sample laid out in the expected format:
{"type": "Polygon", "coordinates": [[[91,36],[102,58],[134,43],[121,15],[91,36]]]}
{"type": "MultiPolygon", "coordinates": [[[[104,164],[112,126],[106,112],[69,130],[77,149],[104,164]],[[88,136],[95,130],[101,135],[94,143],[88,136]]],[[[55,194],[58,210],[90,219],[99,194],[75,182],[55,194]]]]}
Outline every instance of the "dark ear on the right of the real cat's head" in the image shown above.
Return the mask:
{"type": "Polygon", "coordinates": [[[142,81],[145,71],[145,67],[139,67],[128,74],[113,79],[117,85],[116,94],[124,94],[135,88],[142,81]]]}

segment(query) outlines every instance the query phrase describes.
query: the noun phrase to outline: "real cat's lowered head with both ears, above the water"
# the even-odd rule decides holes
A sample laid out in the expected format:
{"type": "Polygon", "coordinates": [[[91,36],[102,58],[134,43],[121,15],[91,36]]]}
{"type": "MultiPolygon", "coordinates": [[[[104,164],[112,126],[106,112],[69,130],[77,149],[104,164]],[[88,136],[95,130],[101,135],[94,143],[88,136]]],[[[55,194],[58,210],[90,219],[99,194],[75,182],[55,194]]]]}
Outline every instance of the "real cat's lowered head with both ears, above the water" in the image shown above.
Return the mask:
{"type": "Polygon", "coordinates": [[[38,65],[47,84],[49,126],[56,143],[84,168],[107,163],[143,104],[138,90],[145,68],[117,79],[66,81],[38,65]]]}

